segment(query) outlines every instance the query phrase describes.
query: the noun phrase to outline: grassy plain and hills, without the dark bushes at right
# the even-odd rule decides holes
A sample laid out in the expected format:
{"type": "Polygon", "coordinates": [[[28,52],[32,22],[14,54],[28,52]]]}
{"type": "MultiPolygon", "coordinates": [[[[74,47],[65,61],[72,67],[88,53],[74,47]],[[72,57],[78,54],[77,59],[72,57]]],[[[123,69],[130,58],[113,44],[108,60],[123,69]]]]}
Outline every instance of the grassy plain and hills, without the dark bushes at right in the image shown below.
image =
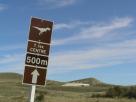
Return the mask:
{"type": "MultiPolygon", "coordinates": [[[[87,78],[72,82],[91,84],[90,87],[63,87],[64,82],[48,80],[46,87],[37,87],[35,102],[135,102],[135,99],[92,98],[93,94],[105,94],[112,87],[94,79],[87,78]],[[102,86],[105,85],[105,86],[102,86]]],[[[28,102],[30,86],[22,85],[22,75],[0,73],[0,102],[28,102]]]]}

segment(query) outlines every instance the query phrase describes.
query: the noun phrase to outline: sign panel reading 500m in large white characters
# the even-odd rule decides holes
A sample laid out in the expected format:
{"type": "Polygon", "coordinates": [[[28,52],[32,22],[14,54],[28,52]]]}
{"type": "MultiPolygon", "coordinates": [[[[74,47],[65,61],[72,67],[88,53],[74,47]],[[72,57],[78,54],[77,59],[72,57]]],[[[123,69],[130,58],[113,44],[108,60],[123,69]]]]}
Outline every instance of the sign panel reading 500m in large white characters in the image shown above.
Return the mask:
{"type": "Polygon", "coordinates": [[[48,66],[48,57],[27,53],[25,64],[46,68],[48,66]]]}

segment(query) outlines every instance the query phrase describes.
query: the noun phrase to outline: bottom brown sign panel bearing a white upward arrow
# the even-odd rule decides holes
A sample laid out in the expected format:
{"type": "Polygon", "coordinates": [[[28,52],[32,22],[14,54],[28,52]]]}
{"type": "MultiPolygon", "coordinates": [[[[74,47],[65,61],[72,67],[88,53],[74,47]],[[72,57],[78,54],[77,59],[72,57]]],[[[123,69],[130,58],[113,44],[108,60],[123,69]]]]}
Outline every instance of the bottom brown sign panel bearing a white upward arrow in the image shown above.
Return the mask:
{"type": "Polygon", "coordinates": [[[23,83],[45,85],[47,69],[25,66],[23,83]]]}

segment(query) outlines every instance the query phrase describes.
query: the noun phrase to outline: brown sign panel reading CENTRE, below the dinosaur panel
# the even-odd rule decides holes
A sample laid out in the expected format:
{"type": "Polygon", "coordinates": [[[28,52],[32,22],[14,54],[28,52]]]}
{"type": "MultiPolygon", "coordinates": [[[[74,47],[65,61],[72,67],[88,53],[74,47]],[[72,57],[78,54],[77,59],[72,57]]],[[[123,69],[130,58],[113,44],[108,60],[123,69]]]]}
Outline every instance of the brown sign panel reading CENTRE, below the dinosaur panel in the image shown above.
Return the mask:
{"type": "Polygon", "coordinates": [[[43,44],[40,42],[28,42],[27,52],[41,55],[49,55],[50,45],[43,44]]]}

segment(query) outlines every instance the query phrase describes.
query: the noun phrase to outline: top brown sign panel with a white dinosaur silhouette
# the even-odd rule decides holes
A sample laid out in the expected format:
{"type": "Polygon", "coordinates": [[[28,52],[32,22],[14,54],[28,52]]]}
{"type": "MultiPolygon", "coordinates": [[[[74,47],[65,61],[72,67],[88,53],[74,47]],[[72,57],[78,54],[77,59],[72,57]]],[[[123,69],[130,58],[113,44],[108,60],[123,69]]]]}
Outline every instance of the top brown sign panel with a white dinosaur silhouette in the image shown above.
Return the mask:
{"type": "Polygon", "coordinates": [[[29,40],[50,44],[53,22],[32,18],[29,40]]]}

